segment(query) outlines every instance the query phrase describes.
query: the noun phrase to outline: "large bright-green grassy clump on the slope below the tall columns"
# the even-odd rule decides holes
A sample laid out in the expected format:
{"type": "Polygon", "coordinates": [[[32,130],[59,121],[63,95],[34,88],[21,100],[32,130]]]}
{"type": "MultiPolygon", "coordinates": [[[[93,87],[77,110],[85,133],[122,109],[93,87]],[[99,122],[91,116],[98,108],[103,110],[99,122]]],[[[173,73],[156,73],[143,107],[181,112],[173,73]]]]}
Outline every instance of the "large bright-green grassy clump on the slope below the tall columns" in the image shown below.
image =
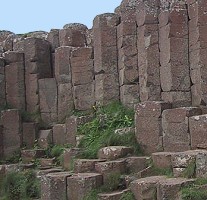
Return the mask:
{"type": "Polygon", "coordinates": [[[100,148],[115,145],[133,147],[134,153],[140,155],[134,133],[126,135],[114,133],[116,129],[134,126],[133,110],[125,108],[118,102],[94,110],[94,119],[78,128],[78,133],[84,135],[79,144],[80,148],[85,149],[81,158],[97,158],[100,148]]]}

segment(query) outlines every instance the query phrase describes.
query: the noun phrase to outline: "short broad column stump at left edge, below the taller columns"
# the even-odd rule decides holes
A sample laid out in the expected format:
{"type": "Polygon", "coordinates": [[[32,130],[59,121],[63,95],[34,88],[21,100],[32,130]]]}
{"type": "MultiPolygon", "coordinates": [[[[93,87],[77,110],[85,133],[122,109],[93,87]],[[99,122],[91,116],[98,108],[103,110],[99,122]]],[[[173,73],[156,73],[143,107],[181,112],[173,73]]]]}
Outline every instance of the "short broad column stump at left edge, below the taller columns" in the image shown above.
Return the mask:
{"type": "Polygon", "coordinates": [[[20,149],[22,143],[21,117],[19,110],[9,109],[1,112],[3,157],[9,158],[20,149]]]}

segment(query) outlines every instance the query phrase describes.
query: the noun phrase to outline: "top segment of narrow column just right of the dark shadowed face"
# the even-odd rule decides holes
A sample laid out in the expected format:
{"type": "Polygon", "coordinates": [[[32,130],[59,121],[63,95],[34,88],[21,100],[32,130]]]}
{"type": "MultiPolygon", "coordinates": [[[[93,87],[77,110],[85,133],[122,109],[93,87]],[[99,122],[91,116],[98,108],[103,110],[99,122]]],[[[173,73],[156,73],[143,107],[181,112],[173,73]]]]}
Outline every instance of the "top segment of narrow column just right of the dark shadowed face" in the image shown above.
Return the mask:
{"type": "Polygon", "coordinates": [[[57,83],[71,83],[70,56],[72,47],[64,46],[55,50],[55,78],[57,83]]]}

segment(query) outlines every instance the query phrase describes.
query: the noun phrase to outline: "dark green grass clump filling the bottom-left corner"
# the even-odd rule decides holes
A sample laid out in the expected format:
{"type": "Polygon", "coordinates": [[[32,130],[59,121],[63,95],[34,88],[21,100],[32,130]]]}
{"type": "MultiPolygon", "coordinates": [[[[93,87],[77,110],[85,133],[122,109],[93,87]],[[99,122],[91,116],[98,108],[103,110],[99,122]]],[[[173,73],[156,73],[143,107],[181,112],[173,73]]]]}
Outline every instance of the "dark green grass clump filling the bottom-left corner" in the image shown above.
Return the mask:
{"type": "Polygon", "coordinates": [[[0,200],[40,198],[40,181],[32,170],[8,173],[1,180],[0,200]]]}

